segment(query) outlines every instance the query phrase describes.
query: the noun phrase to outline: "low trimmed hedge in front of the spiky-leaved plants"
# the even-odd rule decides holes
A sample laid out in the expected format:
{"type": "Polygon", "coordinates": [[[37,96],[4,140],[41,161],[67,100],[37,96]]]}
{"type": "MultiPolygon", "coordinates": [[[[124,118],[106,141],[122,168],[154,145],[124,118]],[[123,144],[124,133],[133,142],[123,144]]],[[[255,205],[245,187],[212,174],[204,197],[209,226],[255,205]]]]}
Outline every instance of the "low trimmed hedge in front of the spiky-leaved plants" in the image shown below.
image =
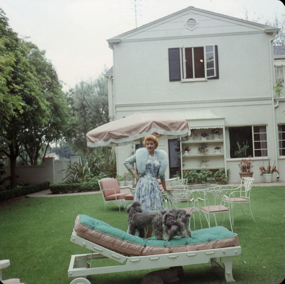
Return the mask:
{"type": "Polygon", "coordinates": [[[100,190],[98,182],[79,182],[79,183],[58,183],[51,184],[50,191],[53,194],[72,193],[83,191],[98,191],[100,190]]]}

